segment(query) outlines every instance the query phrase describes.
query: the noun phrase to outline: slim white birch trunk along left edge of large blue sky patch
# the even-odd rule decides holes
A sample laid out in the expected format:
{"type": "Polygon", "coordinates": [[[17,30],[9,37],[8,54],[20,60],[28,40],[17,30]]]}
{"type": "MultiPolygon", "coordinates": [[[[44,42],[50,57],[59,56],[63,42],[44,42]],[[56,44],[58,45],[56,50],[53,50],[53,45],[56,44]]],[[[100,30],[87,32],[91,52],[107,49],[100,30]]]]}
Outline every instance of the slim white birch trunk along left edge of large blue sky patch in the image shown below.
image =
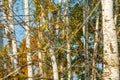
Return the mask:
{"type": "Polygon", "coordinates": [[[11,39],[12,39],[12,61],[13,61],[13,67],[16,69],[18,67],[18,58],[17,58],[17,46],[16,46],[16,35],[15,35],[15,29],[14,29],[14,14],[13,14],[13,0],[8,0],[9,1],[9,27],[11,28],[11,39]]]}

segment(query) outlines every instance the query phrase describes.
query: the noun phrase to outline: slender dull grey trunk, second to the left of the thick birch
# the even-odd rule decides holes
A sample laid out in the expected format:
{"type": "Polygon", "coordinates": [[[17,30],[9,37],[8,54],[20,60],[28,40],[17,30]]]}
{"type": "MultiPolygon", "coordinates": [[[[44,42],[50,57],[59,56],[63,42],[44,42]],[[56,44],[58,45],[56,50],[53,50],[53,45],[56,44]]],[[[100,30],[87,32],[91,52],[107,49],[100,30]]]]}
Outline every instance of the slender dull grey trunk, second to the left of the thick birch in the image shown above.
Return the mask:
{"type": "MultiPolygon", "coordinates": [[[[88,16],[88,0],[84,0],[83,7],[83,20],[86,21],[88,16]]],[[[89,56],[88,56],[88,24],[87,22],[83,26],[83,36],[84,36],[84,52],[86,55],[86,65],[85,65],[85,80],[90,79],[89,75],[89,56]]]]}

